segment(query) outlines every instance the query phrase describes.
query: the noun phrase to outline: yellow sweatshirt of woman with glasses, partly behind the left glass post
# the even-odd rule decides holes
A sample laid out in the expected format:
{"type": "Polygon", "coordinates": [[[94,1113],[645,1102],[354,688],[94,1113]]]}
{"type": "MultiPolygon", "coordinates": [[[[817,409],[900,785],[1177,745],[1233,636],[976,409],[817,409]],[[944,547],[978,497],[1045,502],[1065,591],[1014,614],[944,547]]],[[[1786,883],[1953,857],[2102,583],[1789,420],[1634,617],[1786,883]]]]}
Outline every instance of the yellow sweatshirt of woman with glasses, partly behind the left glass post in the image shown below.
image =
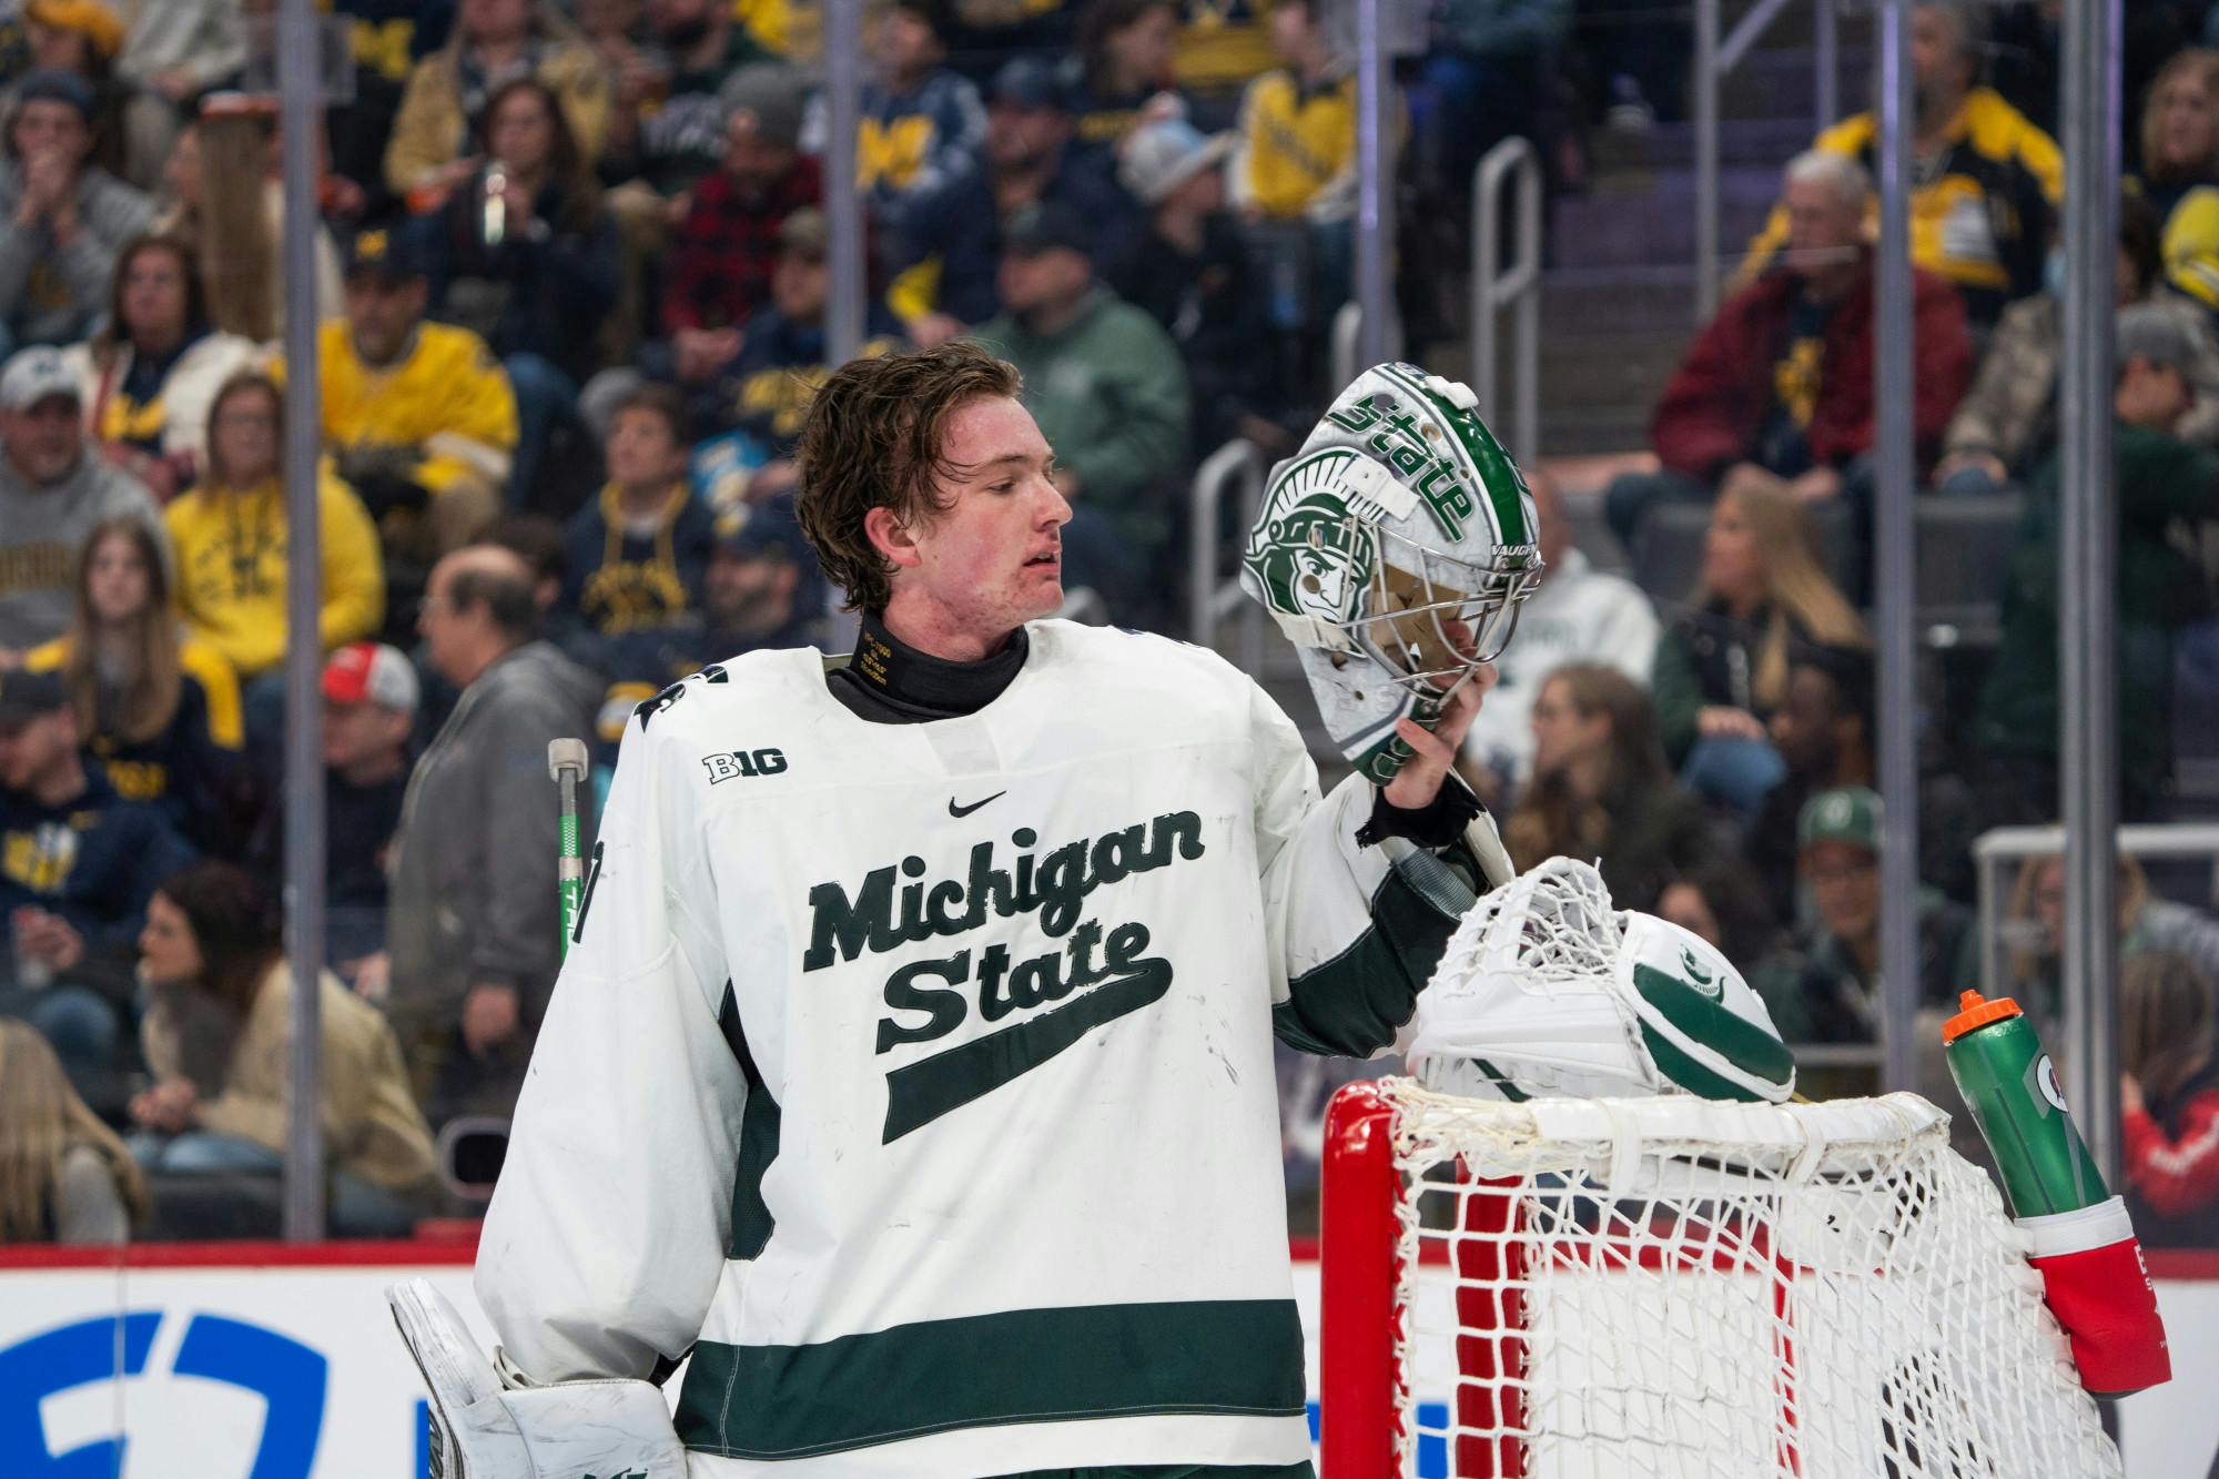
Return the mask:
{"type": "MultiPolygon", "coordinates": [[[[328,653],[377,633],[386,617],[386,569],[377,526],[337,477],[317,482],[324,524],[324,617],[328,653]]],[[[275,477],[233,493],[202,484],[162,511],[178,551],[178,613],[242,680],[284,660],[286,511],[275,477]]]]}

